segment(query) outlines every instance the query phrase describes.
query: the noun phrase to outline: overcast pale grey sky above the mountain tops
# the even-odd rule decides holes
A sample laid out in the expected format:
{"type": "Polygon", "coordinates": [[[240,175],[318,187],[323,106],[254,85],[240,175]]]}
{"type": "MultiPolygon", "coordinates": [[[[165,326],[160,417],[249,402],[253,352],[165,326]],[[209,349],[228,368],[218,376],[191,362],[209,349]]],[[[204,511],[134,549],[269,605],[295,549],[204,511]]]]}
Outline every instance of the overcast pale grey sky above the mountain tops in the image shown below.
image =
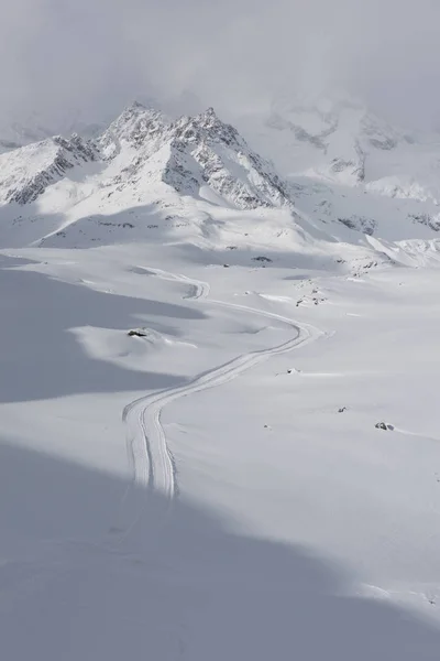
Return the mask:
{"type": "Polygon", "coordinates": [[[196,93],[232,117],[338,86],[440,124],[440,0],[0,0],[0,119],[196,93]]]}

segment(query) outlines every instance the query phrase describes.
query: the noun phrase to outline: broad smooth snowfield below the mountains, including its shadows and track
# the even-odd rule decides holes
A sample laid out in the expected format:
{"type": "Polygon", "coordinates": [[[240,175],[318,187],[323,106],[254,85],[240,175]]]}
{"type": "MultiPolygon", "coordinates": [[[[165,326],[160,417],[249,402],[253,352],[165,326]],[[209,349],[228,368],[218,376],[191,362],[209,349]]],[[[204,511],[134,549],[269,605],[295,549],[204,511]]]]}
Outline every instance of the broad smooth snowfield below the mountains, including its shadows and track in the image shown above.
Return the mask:
{"type": "Polygon", "coordinates": [[[10,658],[438,658],[431,271],[144,243],[1,273],[10,658]]]}

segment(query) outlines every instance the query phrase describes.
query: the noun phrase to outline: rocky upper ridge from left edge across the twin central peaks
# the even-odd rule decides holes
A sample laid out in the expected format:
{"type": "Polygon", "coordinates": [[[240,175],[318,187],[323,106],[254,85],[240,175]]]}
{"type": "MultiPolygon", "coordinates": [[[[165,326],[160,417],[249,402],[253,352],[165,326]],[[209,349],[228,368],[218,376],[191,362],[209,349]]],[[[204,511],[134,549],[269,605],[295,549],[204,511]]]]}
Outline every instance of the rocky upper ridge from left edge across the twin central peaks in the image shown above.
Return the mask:
{"type": "Polygon", "coordinates": [[[1,155],[0,201],[34,202],[75,164],[89,160],[102,162],[107,186],[139,181],[147,186],[155,180],[182,195],[196,195],[208,185],[238,208],[292,204],[288,184],[212,108],[172,122],[141,104],[127,108],[97,141],[54,138],[1,155]]]}

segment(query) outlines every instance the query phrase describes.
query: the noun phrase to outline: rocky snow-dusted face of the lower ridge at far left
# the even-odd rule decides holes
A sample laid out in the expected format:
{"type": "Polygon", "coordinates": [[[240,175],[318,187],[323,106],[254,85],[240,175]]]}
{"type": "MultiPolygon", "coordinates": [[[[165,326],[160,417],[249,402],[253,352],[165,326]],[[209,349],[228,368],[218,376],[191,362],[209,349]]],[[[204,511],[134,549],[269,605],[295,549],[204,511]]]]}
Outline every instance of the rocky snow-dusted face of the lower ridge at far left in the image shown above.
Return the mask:
{"type": "Polygon", "coordinates": [[[0,203],[34,202],[69,170],[99,154],[92,143],[74,134],[55,137],[0,155],[0,203]]]}

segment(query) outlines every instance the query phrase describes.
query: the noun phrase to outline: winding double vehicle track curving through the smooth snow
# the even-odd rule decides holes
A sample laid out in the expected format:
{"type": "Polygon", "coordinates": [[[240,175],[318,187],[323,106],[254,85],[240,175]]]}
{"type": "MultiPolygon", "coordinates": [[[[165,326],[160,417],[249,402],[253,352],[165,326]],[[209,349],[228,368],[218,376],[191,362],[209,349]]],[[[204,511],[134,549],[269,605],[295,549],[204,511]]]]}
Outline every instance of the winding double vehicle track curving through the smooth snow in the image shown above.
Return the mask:
{"type": "MultiPolygon", "coordinates": [[[[148,270],[164,280],[170,280],[189,285],[189,292],[184,299],[206,300],[209,296],[210,286],[207,282],[194,280],[186,275],[177,275],[158,269],[148,270]]],[[[284,342],[275,347],[243,354],[232,360],[210,369],[197,376],[191,381],[182,386],[167,388],[152,394],[141,397],[123,409],[122,420],[127,425],[127,451],[128,458],[133,472],[130,489],[141,488],[146,492],[160,491],[165,496],[166,511],[170,511],[173,501],[178,495],[177,469],[173,454],[167,445],[165,432],[161,422],[163,409],[183,397],[188,397],[201,392],[209,388],[216,388],[235,379],[248,369],[263,362],[271,356],[285,354],[299,346],[314,342],[322,332],[307,324],[294,323],[290,318],[272,312],[265,312],[258,308],[240,305],[237,303],[227,303],[223,301],[209,300],[211,304],[220,305],[231,310],[257,314],[266,318],[280,321],[295,329],[296,335],[292,339],[284,342]]],[[[125,494],[123,501],[127,499],[125,494]]],[[[123,503],[121,503],[123,505],[123,503]]],[[[114,531],[120,531],[125,537],[136,524],[142,511],[135,517],[129,527],[119,527],[114,531]]]]}

